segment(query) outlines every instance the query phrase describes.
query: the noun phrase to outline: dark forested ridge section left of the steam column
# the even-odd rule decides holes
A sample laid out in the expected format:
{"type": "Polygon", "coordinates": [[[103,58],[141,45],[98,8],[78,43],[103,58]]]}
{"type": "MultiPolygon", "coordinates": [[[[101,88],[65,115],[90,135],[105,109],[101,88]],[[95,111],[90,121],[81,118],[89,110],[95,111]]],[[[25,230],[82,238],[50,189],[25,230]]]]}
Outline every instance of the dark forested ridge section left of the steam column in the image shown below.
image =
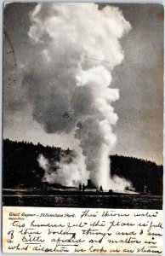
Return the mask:
{"type": "Polygon", "coordinates": [[[43,154],[49,160],[60,161],[60,157],[70,154],[71,150],[57,147],[44,147],[38,143],[12,142],[3,140],[3,188],[18,186],[36,186],[41,184],[43,168],[38,164],[38,157],[43,154]]]}

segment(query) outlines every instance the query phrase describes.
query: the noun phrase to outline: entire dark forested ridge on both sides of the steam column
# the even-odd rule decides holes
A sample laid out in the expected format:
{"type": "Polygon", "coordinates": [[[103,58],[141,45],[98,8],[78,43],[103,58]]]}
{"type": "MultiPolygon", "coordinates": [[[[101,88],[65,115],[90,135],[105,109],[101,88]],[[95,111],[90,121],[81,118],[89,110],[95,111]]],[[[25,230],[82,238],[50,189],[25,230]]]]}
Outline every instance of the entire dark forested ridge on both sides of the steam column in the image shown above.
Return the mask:
{"type": "MultiPolygon", "coordinates": [[[[3,140],[3,188],[32,187],[42,183],[43,169],[38,156],[43,154],[49,160],[60,161],[61,156],[71,154],[68,148],[44,147],[38,143],[12,142],[3,140]]],[[[162,195],[162,166],[146,160],[126,156],[111,156],[111,176],[128,179],[143,193],[144,188],[152,195],[162,195]]]]}

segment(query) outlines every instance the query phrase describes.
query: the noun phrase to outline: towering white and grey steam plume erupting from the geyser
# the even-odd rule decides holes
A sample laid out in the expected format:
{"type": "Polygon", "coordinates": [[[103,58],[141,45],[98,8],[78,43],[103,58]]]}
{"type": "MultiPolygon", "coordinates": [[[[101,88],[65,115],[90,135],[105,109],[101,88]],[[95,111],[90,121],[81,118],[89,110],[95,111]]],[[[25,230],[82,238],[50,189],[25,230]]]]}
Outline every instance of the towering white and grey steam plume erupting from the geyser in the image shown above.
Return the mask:
{"type": "Polygon", "coordinates": [[[110,84],[112,70],[124,58],[119,39],[130,30],[129,22],[120,9],[94,3],[40,3],[30,19],[37,54],[23,84],[33,117],[48,133],[74,132],[80,146],[75,160],[61,160],[56,172],[40,156],[44,180],[77,185],[89,177],[104,189],[124,189],[129,183],[110,175],[109,154],[117,140],[111,102],[119,98],[110,84]]]}

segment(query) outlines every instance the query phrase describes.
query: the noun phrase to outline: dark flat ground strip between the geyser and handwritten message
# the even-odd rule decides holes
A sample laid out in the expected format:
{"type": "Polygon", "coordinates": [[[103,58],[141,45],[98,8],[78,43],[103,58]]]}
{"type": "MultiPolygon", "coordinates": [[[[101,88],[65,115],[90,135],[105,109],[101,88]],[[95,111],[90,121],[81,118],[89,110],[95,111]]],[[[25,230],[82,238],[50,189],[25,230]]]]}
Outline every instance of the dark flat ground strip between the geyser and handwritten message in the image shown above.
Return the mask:
{"type": "Polygon", "coordinates": [[[162,209],[161,195],[137,195],[108,192],[96,194],[94,191],[5,189],[3,206],[19,207],[88,207],[118,209],[162,209]]]}

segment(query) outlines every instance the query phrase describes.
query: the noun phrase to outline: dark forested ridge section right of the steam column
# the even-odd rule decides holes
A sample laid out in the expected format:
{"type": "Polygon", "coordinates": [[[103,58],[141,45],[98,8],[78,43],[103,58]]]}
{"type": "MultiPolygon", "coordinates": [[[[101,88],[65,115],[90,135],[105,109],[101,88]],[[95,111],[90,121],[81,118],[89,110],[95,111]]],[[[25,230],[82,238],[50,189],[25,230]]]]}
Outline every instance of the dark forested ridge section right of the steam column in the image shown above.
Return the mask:
{"type": "Polygon", "coordinates": [[[128,179],[136,191],[162,195],[163,167],[148,160],[127,156],[111,156],[111,175],[128,179]]]}

